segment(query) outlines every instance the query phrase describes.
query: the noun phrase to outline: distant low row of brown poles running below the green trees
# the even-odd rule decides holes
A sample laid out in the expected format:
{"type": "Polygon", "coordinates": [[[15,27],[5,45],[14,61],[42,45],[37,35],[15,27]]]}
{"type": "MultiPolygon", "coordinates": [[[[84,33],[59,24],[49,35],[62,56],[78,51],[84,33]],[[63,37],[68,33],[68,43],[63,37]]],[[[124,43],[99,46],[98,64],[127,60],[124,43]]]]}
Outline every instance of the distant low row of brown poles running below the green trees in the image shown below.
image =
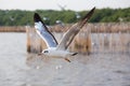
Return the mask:
{"type": "MultiPolygon", "coordinates": [[[[69,29],[72,25],[65,26],[50,26],[50,31],[54,32],[65,32],[69,29]]],[[[8,27],[3,26],[0,27],[0,32],[26,32],[26,28],[30,27],[23,27],[23,26],[13,26],[8,27]]],[[[130,32],[130,23],[100,23],[100,24],[88,24],[88,29],[91,29],[91,32],[130,32]]]]}

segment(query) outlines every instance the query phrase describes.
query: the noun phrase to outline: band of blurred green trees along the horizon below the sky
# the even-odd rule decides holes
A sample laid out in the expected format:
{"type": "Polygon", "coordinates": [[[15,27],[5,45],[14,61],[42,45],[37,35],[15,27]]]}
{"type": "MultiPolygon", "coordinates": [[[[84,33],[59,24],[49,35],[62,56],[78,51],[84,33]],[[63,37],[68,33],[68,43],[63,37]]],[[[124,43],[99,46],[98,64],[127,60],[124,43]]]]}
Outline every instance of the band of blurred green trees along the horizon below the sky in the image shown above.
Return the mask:
{"type": "MultiPolygon", "coordinates": [[[[76,23],[75,11],[21,11],[21,10],[0,10],[0,26],[26,26],[34,25],[34,13],[37,12],[47,25],[55,25],[56,20],[65,24],[76,23]]],[[[88,11],[77,12],[83,17],[88,11]]],[[[90,23],[112,23],[112,22],[130,22],[130,8],[128,9],[102,9],[95,10],[90,23]]]]}

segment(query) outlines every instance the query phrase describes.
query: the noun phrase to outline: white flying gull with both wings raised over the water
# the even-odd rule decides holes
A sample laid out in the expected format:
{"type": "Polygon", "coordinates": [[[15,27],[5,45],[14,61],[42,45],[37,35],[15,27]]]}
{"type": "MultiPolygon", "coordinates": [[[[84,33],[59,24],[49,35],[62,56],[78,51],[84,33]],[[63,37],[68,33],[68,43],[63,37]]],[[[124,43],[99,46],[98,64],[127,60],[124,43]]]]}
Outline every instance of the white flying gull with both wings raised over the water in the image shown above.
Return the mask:
{"type": "Polygon", "coordinates": [[[72,53],[67,49],[76,34],[80,31],[80,29],[86,25],[89,18],[92,16],[94,12],[93,8],[80,22],[73,25],[63,35],[60,43],[57,43],[54,35],[49,31],[48,27],[41,20],[41,17],[38,13],[34,15],[35,28],[36,32],[40,35],[40,38],[46,42],[47,48],[43,49],[39,55],[47,55],[50,57],[60,57],[70,62],[67,58],[68,56],[75,56],[78,53],[72,53]]]}

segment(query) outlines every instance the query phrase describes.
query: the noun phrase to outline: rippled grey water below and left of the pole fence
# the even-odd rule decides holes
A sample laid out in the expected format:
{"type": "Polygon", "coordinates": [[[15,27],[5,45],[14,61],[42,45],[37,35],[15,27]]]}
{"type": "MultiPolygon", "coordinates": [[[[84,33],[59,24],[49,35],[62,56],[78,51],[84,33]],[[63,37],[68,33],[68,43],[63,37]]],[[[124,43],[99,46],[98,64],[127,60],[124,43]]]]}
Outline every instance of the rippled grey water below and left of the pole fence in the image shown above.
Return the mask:
{"type": "Polygon", "coordinates": [[[0,86],[130,86],[129,53],[69,59],[28,55],[25,33],[0,33],[0,86]]]}

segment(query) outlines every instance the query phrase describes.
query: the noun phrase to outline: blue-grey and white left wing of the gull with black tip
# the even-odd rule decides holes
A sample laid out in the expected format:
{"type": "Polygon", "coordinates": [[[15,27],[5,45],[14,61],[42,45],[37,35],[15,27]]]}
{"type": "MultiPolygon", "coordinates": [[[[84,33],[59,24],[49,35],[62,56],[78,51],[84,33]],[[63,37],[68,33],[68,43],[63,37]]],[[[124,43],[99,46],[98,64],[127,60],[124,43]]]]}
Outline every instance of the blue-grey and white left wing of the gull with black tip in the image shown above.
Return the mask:
{"type": "Polygon", "coordinates": [[[56,47],[57,41],[54,35],[48,30],[44,23],[41,20],[40,16],[35,13],[34,15],[35,28],[37,33],[41,37],[41,39],[46,42],[48,47],[56,47]]]}

